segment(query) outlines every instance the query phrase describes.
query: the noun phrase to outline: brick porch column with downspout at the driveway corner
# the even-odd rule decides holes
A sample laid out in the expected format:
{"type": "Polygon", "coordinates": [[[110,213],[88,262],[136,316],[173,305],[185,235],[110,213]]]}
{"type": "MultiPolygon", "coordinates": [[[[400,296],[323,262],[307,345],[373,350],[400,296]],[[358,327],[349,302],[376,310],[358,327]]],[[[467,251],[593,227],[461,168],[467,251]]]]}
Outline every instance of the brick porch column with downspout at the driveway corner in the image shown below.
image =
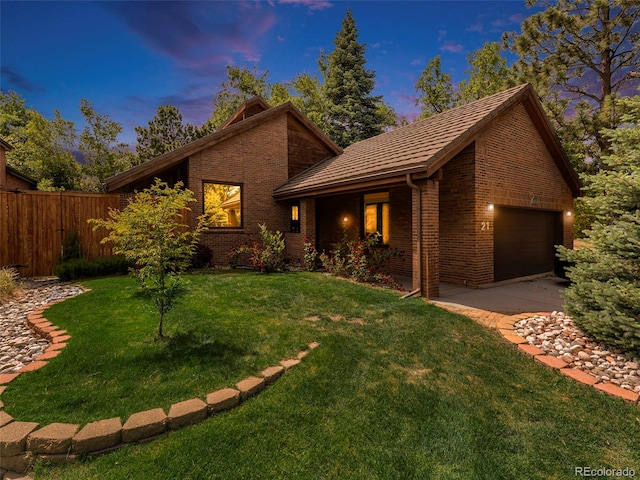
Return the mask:
{"type": "MultiPolygon", "coordinates": [[[[420,242],[421,285],[422,297],[436,298],[440,295],[440,219],[439,219],[440,182],[425,180],[421,184],[420,199],[418,192],[414,192],[414,203],[420,201],[421,232],[416,235],[414,220],[414,256],[416,256],[416,240],[420,242]],[[417,236],[417,238],[416,238],[417,236]]],[[[416,216],[414,206],[414,216],[416,216]]],[[[414,267],[417,258],[414,260],[414,267]]],[[[414,284],[416,282],[416,268],[414,268],[414,284]]]]}

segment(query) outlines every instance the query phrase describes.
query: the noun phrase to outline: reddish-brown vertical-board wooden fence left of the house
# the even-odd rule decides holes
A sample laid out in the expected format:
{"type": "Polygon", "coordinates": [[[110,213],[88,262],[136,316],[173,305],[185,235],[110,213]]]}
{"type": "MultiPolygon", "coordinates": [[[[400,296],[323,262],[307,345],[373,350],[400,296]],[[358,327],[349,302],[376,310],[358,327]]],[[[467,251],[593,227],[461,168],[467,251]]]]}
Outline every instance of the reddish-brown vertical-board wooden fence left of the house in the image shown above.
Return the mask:
{"type": "Polygon", "coordinates": [[[0,267],[20,265],[26,277],[53,275],[69,232],[77,234],[83,257],[111,255],[100,243],[106,231],[94,232],[87,222],[107,218],[109,208],[120,208],[119,195],[0,190],[0,267]]]}

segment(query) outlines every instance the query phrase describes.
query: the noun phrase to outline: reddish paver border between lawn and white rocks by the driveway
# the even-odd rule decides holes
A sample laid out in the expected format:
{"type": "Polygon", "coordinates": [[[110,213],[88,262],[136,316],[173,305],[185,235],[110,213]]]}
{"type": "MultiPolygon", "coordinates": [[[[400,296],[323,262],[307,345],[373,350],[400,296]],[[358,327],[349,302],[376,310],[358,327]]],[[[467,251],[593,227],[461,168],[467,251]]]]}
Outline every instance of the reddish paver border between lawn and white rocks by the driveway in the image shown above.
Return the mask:
{"type": "Polygon", "coordinates": [[[479,308],[465,307],[461,305],[455,305],[450,303],[443,303],[438,301],[432,301],[431,303],[437,305],[440,308],[449,310],[453,313],[459,313],[470,319],[480,323],[481,325],[489,328],[494,328],[500,332],[500,334],[510,343],[518,347],[518,349],[527,355],[533,357],[537,362],[540,362],[548,367],[560,370],[561,373],[570,377],[585,385],[590,385],[601,392],[605,392],[615,397],[620,397],[628,402],[635,403],[640,406],[640,394],[625,390],[611,382],[600,382],[598,379],[587,372],[578,370],[575,368],[569,368],[568,365],[561,359],[552,355],[547,355],[538,347],[531,345],[527,340],[513,330],[514,324],[525,318],[531,318],[539,315],[549,315],[549,312],[532,312],[532,313],[518,313],[516,315],[504,315],[501,313],[490,312],[487,310],[481,310],[479,308]]]}

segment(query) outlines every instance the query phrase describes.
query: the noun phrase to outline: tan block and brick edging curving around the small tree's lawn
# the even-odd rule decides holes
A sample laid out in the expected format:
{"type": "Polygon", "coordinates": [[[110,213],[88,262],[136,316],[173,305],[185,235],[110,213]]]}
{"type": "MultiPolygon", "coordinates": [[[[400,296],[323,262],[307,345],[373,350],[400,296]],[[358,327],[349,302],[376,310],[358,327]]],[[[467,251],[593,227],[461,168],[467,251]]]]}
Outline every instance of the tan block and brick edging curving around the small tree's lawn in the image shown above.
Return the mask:
{"type": "MultiPolygon", "coordinates": [[[[74,295],[75,296],[75,295],[74,295]]],[[[67,298],[72,298],[67,297],[67,298]]],[[[65,330],[52,325],[44,316],[44,311],[67,298],[55,300],[27,314],[28,327],[38,336],[48,339],[51,344],[34,362],[22,367],[18,372],[0,375],[0,394],[6,384],[23,372],[37,370],[47,364],[46,360],[56,357],[71,338],[65,330]]],[[[5,471],[26,472],[36,460],[51,463],[74,461],[82,455],[100,455],[134,442],[147,442],[171,430],[199,423],[206,418],[237,407],[243,401],[258,394],[271,385],[284,372],[300,361],[319,345],[311,342],[296,358],[286,358],[279,365],[265,368],[260,376],[249,376],[236,383],[236,388],[222,388],[207,394],[206,401],[192,398],[177,402],[169,407],[166,414],[162,408],[136,412],[122,424],[120,417],[80,424],[52,423],[40,427],[37,422],[14,421],[6,413],[0,402],[0,478],[5,471]]]]}

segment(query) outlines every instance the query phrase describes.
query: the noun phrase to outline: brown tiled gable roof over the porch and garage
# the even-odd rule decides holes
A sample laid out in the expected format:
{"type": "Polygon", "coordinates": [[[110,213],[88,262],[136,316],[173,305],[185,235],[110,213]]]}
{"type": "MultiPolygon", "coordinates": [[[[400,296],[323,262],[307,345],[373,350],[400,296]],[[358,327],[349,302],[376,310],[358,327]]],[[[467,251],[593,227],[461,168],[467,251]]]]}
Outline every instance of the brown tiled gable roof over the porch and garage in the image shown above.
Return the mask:
{"type": "Polygon", "coordinates": [[[527,111],[574,195],[580,183],[542,105],[529,84],[520,85],[397,128],[345,148],[289,179],[274,191],[293,198],[347,189],[355,184],[398,178],[408,173],[431,176],[463,150],[491,120],[517,103],[527,111]]]}

